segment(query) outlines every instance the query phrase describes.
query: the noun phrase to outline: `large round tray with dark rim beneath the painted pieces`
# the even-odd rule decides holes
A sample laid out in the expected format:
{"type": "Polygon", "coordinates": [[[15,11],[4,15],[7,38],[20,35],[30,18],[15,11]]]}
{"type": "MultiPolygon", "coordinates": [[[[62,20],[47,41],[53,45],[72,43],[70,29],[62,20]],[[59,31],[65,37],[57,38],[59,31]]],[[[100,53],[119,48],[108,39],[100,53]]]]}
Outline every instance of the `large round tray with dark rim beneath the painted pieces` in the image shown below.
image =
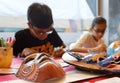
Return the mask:
{"type": "Polygon", "coordinates": [[[99,73],[99,74],[120,74],[120,65],[119,64],[111,64],[108,67],[101,67],[98,64],[90,64],[86,63],[84,61],[78,61],[75,57],[71,56],[69,53],[64,53],[62,56],[62,59],[70,64],[76,67],[76,69],[81,71],[87,71],[91,73],[99,73]]]}

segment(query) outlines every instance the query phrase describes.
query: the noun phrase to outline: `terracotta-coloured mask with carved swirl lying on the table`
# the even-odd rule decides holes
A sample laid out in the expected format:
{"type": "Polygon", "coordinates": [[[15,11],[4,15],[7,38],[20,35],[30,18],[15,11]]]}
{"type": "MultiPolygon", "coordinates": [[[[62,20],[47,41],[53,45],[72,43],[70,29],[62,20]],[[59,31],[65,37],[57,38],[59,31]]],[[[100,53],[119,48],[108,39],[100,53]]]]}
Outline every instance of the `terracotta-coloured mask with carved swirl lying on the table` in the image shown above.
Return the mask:
{"type": "Polygon", "coordinates": [[[64,75],[61,65],[48,57],[46,53],[34,53],[27,56],[16,73],[18,78],[33,82],[60,78],[64,75]]]}

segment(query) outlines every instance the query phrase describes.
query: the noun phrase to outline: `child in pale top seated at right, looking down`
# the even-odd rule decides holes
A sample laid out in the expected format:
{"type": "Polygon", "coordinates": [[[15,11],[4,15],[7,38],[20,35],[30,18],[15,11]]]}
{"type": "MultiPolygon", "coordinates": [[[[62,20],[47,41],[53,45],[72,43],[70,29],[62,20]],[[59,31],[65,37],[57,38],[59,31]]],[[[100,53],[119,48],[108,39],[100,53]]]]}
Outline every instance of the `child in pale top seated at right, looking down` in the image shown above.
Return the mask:
{"type": "Polygon", "coordinates": [[[82,53],[88,53],[90,51],[106,52],[107,46],[102,39],[106,26],[105,18],[96,17],[92,22],[89,33],[83,34],[80,39],[70,47],[70,50],[82,53]]]}

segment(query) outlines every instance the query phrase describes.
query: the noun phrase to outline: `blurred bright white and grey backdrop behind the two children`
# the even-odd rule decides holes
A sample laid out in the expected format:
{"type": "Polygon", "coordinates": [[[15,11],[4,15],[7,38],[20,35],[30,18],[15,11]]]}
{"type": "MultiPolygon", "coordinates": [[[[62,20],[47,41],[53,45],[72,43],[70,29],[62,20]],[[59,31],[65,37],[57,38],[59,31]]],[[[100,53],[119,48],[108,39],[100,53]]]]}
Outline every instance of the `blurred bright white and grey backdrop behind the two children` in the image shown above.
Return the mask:
{"type": "Polygon", "coordinates": [[[27,28],[27,9],[33,2],[52,9],[54,27],[66,45],[88,32],[96,16],[107,19],[105,43],[120,39],[120,0],[0,0],[0,37],[14,37],[27,28]]]}

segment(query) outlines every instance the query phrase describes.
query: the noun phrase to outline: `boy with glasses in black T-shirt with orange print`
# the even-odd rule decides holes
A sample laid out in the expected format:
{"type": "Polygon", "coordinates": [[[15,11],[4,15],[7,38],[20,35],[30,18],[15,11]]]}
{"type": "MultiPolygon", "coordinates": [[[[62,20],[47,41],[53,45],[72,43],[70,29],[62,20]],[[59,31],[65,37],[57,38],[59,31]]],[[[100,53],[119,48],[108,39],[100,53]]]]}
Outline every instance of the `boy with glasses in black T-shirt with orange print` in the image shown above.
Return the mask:
{"type": "MultiPolygon", "coordinates": [[[[15,34],[14,55],[28,56],[35,52],[45,52],[54,56],[54,48],[65,47],[63,41],[52,27],[51,9],[40,3],[33,3],[27,12],[28,28],[15,34]]],[[[61,49],[60,49],[61,50],[61,49]]]]}

